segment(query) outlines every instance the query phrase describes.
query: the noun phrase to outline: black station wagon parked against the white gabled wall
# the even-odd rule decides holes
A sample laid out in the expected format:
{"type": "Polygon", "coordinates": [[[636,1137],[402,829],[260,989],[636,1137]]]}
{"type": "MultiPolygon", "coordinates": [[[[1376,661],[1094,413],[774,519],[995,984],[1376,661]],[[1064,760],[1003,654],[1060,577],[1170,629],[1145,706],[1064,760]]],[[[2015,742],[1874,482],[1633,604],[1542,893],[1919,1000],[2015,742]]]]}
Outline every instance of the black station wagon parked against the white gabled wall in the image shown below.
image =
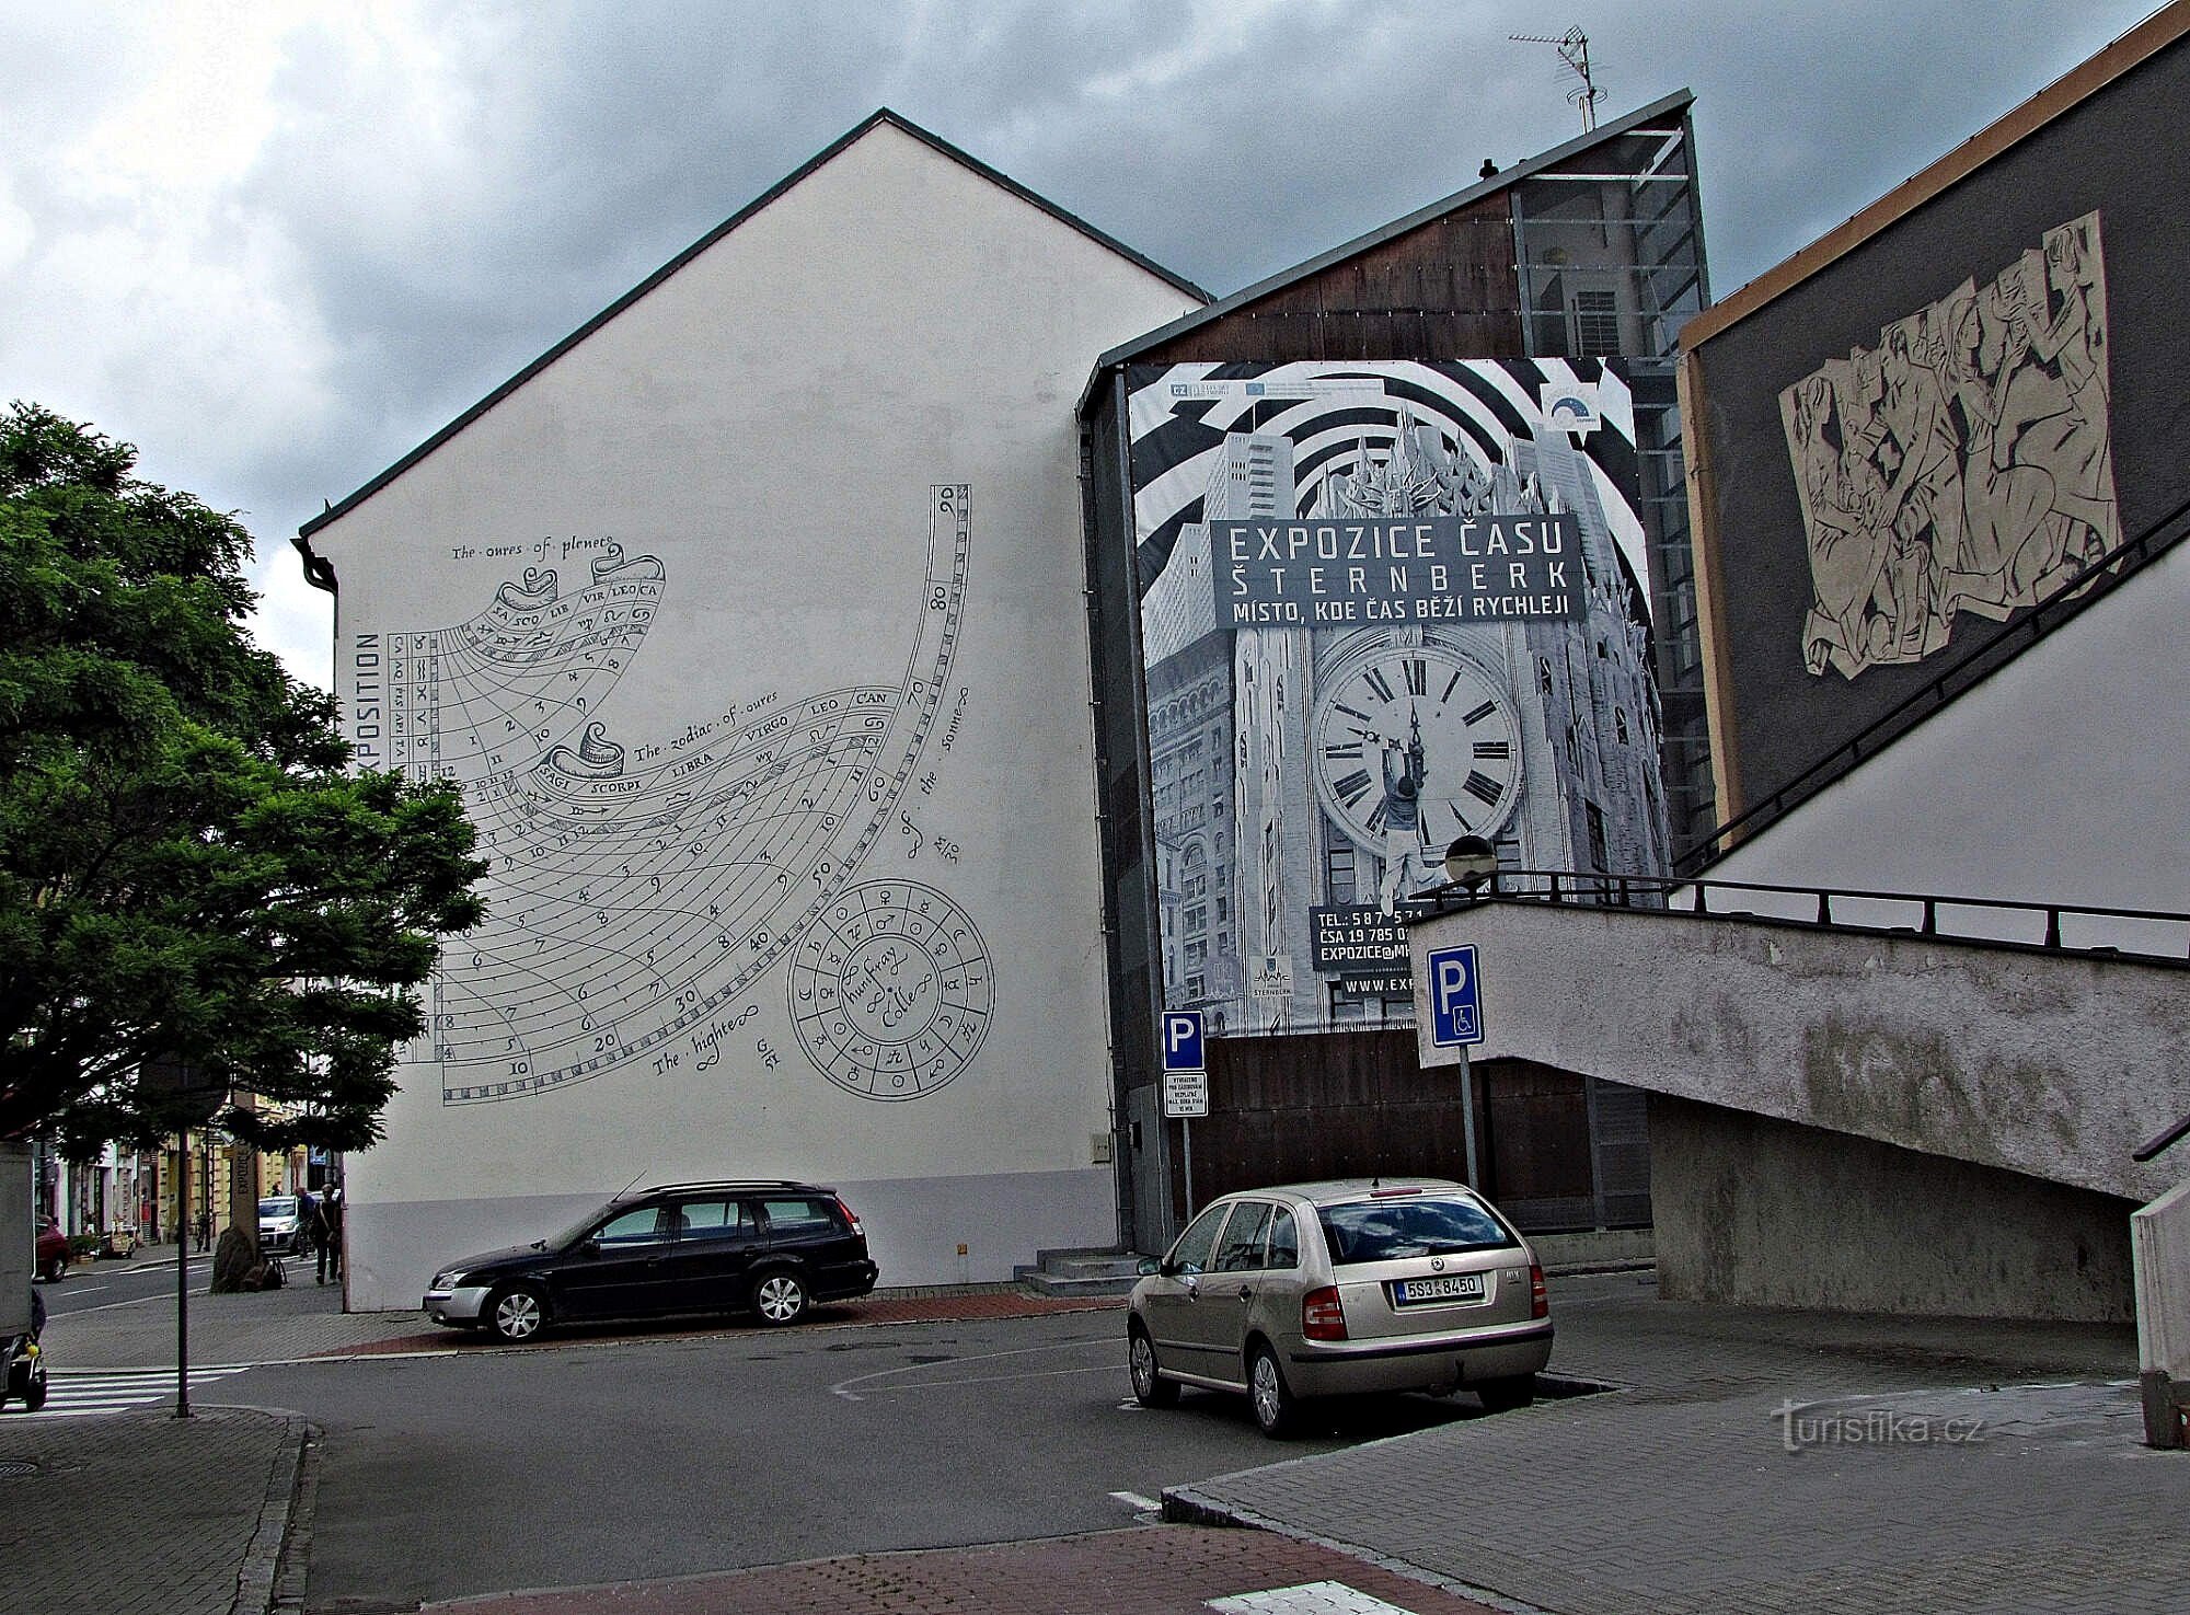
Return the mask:
{"type": "Polygon", "coordinates": [[[834,1188],[657,1184],[618,1195],[552,1239],[434,1274],[425,1315],[532,1339],[554,1322],[753,1311],[795,1324],[808,1302],[874,1289],[867,1230],[834,1188]]]}

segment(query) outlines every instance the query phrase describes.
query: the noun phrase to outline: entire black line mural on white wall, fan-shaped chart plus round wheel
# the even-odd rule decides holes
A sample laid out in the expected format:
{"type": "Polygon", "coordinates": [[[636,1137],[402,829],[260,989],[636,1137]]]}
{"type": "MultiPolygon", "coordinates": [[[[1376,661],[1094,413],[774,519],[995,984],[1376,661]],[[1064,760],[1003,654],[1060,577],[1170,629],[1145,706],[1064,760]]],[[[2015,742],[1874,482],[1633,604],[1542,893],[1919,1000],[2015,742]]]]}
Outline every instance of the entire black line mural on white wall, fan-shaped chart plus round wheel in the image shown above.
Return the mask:
{"type": "MultiPolygon", "coordinates": [[[[970,547],[970,488],[933,486],[894,681],[758,692],[644,742],[618,737],[615,689],[677,672],[646,667],[679,589],[657,554],[587,541],[464,621],[357,635],[355,700],[385,711],[385,766],[458,779],[493,862],[486,921],[434,972],[412,1077],[431,1070],[447,1105],[699,1077],[762,994],[782,994],[797,1055],[848,1094],[913,1101],[961,1074],[994,1011],[988,948],[957,899],[896,880],[907,860],[883,853],[911,838],[929,864],[955,860],[909,799],[961,716],[946,692],[970,547]]],[[[769,1068],[788,1055],[756,1042],[769,1068]]]]}

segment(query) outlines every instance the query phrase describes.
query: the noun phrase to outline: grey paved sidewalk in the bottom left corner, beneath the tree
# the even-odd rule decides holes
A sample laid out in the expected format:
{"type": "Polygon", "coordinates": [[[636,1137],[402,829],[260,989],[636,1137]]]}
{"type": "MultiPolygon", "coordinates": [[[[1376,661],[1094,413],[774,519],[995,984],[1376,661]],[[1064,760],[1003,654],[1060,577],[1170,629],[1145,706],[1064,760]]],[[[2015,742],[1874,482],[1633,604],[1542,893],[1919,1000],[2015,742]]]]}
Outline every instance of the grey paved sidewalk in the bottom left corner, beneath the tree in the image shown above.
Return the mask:
{"type": "Polygon", "coordinates": [[[304,1436],[243,1407],[0,1414],[0,1608],[265,1611],[304,1436]]]}

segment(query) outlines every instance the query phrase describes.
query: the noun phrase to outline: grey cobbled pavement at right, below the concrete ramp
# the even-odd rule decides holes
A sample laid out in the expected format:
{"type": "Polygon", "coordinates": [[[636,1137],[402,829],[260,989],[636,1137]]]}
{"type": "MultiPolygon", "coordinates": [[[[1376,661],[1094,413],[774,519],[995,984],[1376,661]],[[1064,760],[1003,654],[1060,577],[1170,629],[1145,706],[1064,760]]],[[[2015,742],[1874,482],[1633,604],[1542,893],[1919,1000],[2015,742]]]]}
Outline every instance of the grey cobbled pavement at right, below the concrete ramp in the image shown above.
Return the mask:
{"type": "Polygon", "coordinates": [[[1561,1615],[2186,1606],[2190,1464],[2140,1444],[2126,1331],[1734,1311],[1632,1280],[1559,1298],[1553,1368],[1625,1390],[1218,1477],[1167,1510],[1561,1615]]]}

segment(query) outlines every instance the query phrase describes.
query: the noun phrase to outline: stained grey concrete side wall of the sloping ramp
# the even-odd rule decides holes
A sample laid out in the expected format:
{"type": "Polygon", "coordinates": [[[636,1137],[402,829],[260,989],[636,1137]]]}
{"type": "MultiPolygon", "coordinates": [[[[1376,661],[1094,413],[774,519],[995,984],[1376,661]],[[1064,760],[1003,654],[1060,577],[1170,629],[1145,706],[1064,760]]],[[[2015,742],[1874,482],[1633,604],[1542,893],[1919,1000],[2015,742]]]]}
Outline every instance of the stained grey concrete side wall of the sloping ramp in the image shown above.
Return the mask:
{"type": "Polygon", "coordinates": [[[1496,899],[1413,932],[1474,943],[1485,1042],[1662,1094],[2155,1199],[2131,1151],[2190,1112],[2190,969],[1664,910],[1496,899]]]}

